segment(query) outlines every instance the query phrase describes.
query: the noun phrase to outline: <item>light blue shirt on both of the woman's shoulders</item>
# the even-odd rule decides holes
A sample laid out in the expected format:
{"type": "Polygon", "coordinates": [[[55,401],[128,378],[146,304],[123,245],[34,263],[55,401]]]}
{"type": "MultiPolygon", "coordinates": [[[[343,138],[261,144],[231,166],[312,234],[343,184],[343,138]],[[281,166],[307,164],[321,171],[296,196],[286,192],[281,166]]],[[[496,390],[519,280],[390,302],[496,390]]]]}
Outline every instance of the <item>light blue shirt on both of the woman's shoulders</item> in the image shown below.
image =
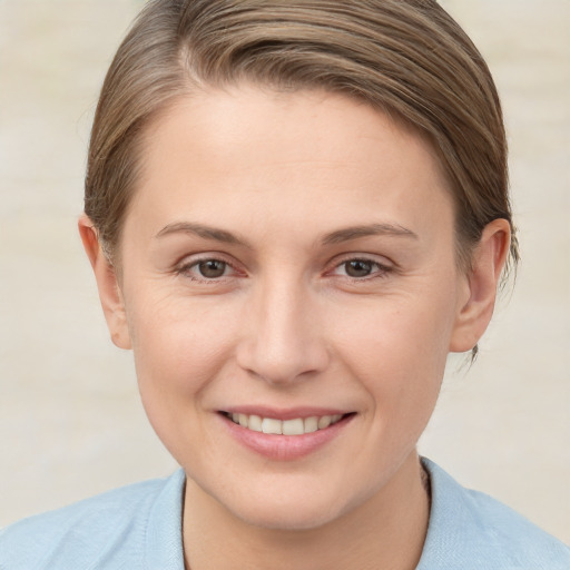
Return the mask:
{"type": "MultiPolygon", "coordinates": [[[[432,507],[416,570],[570,570],[570,549],[520,514],[430,473],[432,507]]],[[[185,475],[137,483],[0,532],[1,570],[184,570],[185,475]]]]}

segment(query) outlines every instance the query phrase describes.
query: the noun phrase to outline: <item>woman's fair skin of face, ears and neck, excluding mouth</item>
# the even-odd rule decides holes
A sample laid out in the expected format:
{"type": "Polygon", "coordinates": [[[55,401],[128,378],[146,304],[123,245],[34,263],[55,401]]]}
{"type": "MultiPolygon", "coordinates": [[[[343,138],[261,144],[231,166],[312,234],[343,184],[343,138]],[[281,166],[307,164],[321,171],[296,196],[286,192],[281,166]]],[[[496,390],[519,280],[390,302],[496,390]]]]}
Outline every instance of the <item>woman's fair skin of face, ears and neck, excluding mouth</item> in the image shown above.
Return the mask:
{"type": "Polygon", "coordinates": [[[491,318],[509,246],[495,220],[459,268],[428,141],[340,95],[210,89],[148,129],[120,278],[79,227],[111,337],[134,350],[149,420],[187,474],[188,567],[415,568],[416,442],[448,353],[491,318]],[[208,278],[205,259],[227,265],[208,278]],[[243,405],[354,415],[277,461],[228,435],[218,412],[243,405]]]}

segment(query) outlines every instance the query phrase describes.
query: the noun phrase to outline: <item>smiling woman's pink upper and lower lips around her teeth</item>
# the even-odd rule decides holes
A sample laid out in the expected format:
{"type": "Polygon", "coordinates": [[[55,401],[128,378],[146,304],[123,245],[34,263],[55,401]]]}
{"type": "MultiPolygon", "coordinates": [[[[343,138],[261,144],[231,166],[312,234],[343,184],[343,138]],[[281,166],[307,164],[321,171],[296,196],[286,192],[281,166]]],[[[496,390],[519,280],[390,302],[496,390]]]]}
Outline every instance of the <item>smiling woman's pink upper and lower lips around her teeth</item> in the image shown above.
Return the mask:
{"type": "Polygon", "coordinates": [[[293,420],[295,417],[311,417],[314,415],[344,414],[338,422],[312,433],[303,435],[274,435],[263,432],[255,432],[234,423],[223,412],[217,415],[224,423],[229,435],[248,450],[274,461],[293,461],[305,458],[334,439],[340,436],[355,417],[355,413],[346,413],[342,410],[296,407],[294,410],[275,410],[259,406],[239,406],[224,410],[228,413],[243,413],[247,415],[259,415],[276,420],[293,420]]]}

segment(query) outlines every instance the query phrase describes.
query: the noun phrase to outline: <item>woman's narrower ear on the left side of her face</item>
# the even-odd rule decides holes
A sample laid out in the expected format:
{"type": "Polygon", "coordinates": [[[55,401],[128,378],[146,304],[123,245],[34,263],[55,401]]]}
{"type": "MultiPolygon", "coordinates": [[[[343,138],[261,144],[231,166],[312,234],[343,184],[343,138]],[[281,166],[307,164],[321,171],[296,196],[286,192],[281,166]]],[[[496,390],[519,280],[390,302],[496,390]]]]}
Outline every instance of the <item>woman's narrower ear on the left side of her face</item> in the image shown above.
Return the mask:
{"type": "Polygon", "coordinates": [[[78,226],[83,248],[95,273],[99,298],[101,299],[111,341],[119,348],[130,348],[131,342],[127,326],[125,303],[115,267],[99,244],[94,224],[85,214],[79,218],[78,226]]]}

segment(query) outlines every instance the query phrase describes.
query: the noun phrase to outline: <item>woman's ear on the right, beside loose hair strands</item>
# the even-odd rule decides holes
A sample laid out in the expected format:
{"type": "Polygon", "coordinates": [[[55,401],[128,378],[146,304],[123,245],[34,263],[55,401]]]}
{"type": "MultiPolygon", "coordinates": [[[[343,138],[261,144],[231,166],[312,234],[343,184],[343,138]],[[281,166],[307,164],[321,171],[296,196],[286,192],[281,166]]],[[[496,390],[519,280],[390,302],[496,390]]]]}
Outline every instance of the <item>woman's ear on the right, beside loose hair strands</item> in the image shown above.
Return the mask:
{"type": "Polygon", "coordinates": [[[505,219],[485,226],[465,275],[465,295],[458,307],[450,352],[473,348],[493,315],[497,288],[509,254],[511,227],[505,219]]]}

